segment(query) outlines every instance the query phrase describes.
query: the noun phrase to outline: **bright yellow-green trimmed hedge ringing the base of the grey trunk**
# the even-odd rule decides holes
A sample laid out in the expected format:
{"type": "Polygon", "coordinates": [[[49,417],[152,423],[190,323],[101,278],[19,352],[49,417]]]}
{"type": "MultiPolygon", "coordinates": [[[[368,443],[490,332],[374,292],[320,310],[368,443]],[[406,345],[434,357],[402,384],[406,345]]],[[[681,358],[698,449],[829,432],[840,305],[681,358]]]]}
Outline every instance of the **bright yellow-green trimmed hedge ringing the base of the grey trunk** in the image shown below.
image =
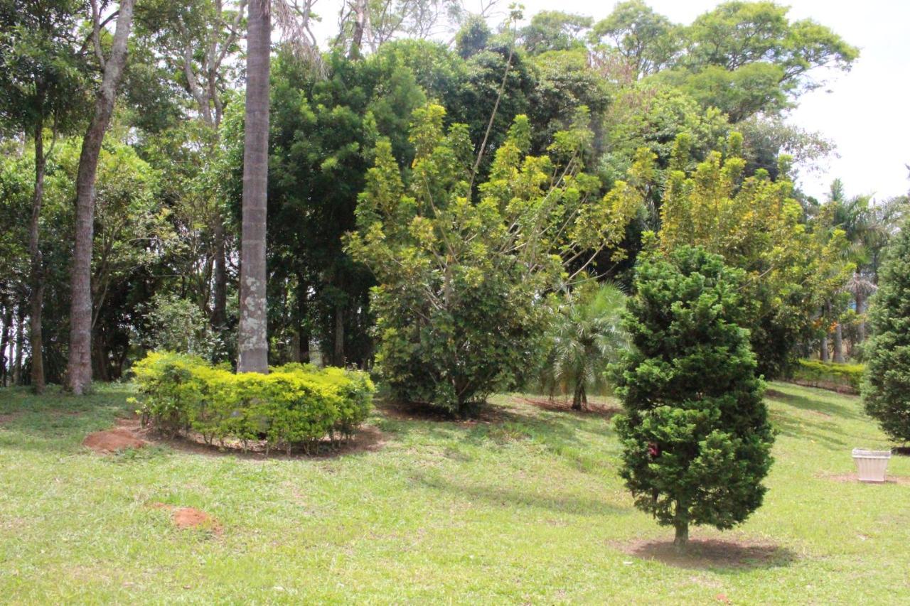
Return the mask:
{"type": "Polygon", "coordinates": [[[259,439],[288,452],[349,439],[374,391],[366,373],[304,364],[235,374],[196,356],[155,352],[133,369],[144,423],[171,435],[196,432],[207,444],[237,439],[244,449],[259,439]]]}

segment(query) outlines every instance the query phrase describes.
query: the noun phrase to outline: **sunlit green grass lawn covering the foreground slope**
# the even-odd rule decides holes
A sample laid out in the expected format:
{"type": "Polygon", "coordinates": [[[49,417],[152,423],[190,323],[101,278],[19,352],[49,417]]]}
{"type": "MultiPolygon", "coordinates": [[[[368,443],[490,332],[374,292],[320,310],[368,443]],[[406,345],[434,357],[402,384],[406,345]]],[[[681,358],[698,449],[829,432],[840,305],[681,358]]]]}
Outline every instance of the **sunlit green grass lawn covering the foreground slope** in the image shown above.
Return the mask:
{"type": "MultiPolygon", "coordinates": [[[[0,601],[910,601],[910,483],[836,478],[884,435],[858,399],[770,388],[765,503],[736,530],[693,528],[685,559],[632,507],[598,414],[499,396],[480,422],[378,410],[381,448],[334,458],[98,455],[81,442],[126,413],[127,387],[0,389],[0,601]]],[[[888,470],[910,479],[910,458],[888,470]]]]}

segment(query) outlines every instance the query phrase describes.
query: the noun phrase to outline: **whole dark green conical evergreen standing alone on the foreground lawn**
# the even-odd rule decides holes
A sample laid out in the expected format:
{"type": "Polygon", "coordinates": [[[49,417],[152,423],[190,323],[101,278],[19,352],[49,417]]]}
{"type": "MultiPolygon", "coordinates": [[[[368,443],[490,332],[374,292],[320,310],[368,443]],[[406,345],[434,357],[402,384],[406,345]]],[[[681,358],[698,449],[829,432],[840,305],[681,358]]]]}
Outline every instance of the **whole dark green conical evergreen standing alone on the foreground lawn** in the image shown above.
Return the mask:
{"type": "Polygon", "coordinates": [[[743,271],[701,247],[642,259],[614,368],[625,414],[622,478],[635,505],[676,530],[729,529],[761,504],[773,433],[749,347],[743,271]]]}

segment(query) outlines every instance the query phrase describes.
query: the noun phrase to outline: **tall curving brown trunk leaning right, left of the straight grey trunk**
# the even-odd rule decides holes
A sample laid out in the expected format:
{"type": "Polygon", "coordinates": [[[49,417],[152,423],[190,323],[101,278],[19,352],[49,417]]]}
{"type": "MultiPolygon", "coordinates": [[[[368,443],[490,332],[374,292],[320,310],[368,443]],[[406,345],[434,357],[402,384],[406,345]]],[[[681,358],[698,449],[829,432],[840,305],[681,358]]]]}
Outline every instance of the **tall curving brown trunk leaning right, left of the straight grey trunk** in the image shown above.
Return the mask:
{"type": "Polygon", "coordinates": [[[121,0],[116,19],[111,55],[106,59],[104,76],[95,101],[95,115],[82,140],[79,170],[76,174],[76,244],[73,249],[71,277],[69,363],[67,387],[76,395],[86,392],[92,382],[92,240],[95,223],[95,177],[98,155],[111,115],[114,113],[116,87],[126,66],[126,42],[133,25],[135,0],[121,0]]]}

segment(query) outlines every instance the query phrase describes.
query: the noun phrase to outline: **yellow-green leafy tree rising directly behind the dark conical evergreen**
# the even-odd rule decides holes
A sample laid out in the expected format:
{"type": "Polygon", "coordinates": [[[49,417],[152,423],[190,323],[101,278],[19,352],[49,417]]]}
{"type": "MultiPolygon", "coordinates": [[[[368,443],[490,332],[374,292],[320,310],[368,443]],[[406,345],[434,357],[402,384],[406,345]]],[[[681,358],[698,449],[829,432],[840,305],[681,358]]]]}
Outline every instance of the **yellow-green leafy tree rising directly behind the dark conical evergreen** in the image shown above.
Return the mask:
{"type": "Polygon", "coordinates": [[[703,246],[746,272],[743,326],[751,330],[760,371],[773,378],[811,330],[819,297],[840,288],[853,266],[840,254],[843,230],[806,228],[785,167],[776,180],[763,169],[744,177],[741,146],[742,136],[733,133],[723,152],[690,171],[689,136],[677,137],[657,237],[664,251],[703,246]]]}

